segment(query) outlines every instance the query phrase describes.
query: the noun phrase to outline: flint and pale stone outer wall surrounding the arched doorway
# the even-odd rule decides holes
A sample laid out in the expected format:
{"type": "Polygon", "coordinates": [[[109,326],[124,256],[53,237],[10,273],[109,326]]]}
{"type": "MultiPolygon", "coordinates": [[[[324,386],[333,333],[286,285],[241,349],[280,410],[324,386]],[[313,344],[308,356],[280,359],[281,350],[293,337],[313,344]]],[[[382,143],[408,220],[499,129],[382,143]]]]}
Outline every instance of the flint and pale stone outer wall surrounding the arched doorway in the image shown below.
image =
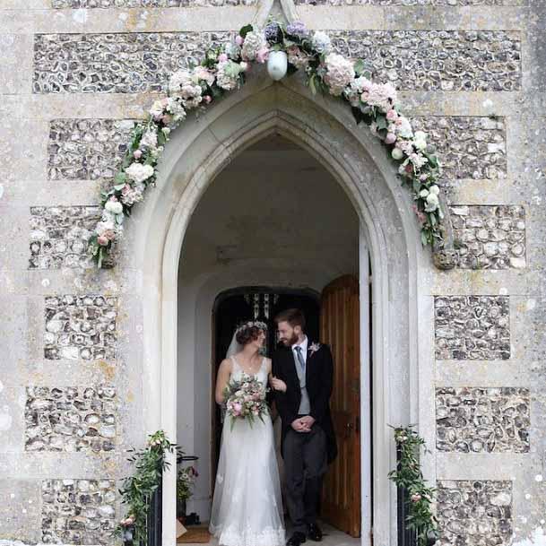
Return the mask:
{"type": "MultiPolygon", "coordinates": [[[[168,74],[252,21],[258,4],[0,2],[0,541],[112,540],[126,449],[147,432],[146,285],[130,256],[102,272],[86,258],[100,186],[168,74]]],[[[394,82],[445,158],[459,262],[422,274],[416,294],[432,309],[419,335],[434,384],[420,385],[417,403],[437,423],[423,434],[440,543],[543,544],[546,4],[295,9],[394,82]]]]}

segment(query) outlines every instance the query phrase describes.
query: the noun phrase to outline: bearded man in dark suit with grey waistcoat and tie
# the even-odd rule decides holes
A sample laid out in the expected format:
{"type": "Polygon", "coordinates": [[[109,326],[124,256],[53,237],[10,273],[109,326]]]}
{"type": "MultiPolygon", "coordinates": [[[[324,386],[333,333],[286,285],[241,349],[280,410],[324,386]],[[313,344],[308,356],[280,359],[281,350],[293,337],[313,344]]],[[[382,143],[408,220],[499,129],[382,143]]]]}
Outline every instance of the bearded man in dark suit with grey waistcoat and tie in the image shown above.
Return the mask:
{"type": "Polygon", "coordinates": [[[304,333],[299,309],[283,311],[275,322],[282,347],[273,355],[272,386],[282,419],[286,501],[293,524],[287,546],[299,546],[307,537],[322,540],[316,524],[322,479],[337,454],[330,415],[334,363],[330,348],[304,333]]]}

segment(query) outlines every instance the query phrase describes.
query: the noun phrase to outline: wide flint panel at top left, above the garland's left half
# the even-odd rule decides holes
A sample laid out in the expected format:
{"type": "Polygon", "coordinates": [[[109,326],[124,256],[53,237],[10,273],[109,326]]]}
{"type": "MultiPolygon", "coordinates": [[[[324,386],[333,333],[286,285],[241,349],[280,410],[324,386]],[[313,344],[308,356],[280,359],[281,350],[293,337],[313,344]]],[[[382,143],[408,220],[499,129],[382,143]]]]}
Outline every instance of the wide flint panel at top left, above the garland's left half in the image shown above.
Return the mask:
{"type": "Polygon", "coordinates": [[[170,74],[201,62],[227,32],[37,34],[35,93],[136,93],[165,90],[170,74]],[[59,62],[58,59],[64,59],[59,62]]]}

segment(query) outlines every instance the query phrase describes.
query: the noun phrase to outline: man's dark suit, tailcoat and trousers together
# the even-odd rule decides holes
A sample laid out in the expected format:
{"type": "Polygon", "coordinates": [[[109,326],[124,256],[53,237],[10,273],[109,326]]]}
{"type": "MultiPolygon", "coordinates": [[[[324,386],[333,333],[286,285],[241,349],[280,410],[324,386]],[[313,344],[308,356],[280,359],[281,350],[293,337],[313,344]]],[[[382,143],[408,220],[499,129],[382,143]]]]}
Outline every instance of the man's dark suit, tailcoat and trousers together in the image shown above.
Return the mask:
{"type": "Polygon", "coordinates": [[[316,523],[322,477],[327,464],[337,455],[330,395],[334,378],[332,352],[327,345],[308,340],[306,387],[311,417],[310,432],[297,432],[291,423],[300,417],[301,388],[294,351],[282,347],[273,354],[273,376],[286,383],[286,392],[275,391],[277,410],[282,419],[282,458],[286,473],[286,497],[294,531],[306,532],[316,523]]]}

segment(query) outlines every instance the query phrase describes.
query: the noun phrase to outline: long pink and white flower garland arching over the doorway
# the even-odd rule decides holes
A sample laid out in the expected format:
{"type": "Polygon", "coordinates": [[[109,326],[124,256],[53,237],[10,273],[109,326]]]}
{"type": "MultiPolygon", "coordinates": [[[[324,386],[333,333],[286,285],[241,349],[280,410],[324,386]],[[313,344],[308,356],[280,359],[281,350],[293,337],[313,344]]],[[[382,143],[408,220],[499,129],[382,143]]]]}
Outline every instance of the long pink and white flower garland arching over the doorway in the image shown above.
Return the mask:
{"type": "Polygon", "coordinates": [[[422,244],[442,240],[438,158],[427,143],[427,134],[413,132],[409,119],[400,112],[393,85],[372,82],[364,61],[334,53],[325,32],[310,32],[301,22],[286,26],[270,22],[263,30],[243,27],[233,41],[207,50],[200,65],[172,74],[167,97],[156,100],[147,119],[134,128],[114,183],[101,194],[102,217],[89,241],[99,267],[122,237],[124,220],[131,216],[134,204],[143,201],[146,189],[155,185],[169,134],[191,110],[237,90],[246,81],[250,66],[264,64],[273,51],[286,53],[288,74],[303,71],[313,93],[320,91],[349,103],[357,123],[369,126],[384,143],[403,184],[412,190],[422,244]]]}

